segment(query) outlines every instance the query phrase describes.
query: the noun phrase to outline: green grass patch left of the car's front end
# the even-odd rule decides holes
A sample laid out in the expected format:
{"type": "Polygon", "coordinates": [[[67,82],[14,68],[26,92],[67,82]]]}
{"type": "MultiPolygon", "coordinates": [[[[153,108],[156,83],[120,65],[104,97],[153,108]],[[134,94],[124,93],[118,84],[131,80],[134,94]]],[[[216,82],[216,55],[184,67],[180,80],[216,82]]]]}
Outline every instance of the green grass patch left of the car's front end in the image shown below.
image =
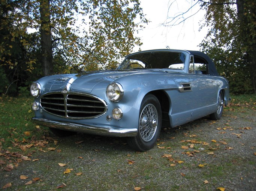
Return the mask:
{"type": "Polygon", "coordinates": [[[29,142],[39,139],[46,128],[37,129],[31,122],[34,112],[31,109],[33,98],[0,97],[0,143],[3,149],[13,143],[29,142]]]}

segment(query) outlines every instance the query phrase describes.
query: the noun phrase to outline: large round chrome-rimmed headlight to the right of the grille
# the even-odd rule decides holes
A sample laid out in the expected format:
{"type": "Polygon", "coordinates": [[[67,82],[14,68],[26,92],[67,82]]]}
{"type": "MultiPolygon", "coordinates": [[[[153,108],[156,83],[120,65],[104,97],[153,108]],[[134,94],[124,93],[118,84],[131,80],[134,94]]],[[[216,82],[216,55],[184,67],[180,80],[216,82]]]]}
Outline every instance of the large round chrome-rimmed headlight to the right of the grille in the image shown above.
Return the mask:
{"type": "Polygon", "coordinates": [[[122,99],[124,95],[124,89],[121,84],[115,82],[108,85],[106,89],[106,95],[110,101],[117,102],[122,99]]]}

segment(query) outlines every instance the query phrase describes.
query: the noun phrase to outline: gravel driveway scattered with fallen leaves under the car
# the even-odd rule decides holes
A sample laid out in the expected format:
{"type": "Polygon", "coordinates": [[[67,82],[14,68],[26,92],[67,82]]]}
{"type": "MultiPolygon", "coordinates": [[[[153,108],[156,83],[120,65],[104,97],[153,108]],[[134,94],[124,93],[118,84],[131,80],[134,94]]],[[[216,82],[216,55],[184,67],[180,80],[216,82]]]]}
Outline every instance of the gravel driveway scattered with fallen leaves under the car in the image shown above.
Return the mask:
{"type": "Polygon", "coordinates": [[[157,145],[146,152],[131,150],[124,138],[45,138],[27,153],[27,161],[0,171],[0,188],[251,191],[255,135],[255,110],[240,106],[227,107],[219,121],[202,118],[162,129],[157,145]]]}

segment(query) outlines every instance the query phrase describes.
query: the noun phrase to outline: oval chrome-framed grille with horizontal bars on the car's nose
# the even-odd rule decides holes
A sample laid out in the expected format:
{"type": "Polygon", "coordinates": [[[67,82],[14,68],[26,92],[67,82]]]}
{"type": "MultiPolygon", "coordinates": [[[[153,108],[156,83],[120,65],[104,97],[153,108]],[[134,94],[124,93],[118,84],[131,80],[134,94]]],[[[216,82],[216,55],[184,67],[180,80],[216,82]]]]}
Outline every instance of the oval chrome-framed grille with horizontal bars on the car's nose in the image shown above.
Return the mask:
{"type": "Polygon", "coordinates": [[[46,94],[40,103],[45,111],[65,118],[96,118],[107,110],[103,100],[84,94],[46,94]]]}

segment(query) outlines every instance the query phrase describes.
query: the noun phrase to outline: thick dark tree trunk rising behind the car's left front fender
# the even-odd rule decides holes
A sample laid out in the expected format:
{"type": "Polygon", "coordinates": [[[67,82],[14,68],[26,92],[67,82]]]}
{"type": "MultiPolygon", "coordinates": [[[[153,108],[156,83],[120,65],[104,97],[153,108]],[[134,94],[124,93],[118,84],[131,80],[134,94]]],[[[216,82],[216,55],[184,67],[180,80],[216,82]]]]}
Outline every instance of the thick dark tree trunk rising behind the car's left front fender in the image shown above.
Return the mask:
{"type": "Polygon", "coordinates": [[[45,76],[52,75],[52,40],[51,40],[51,20],[50,1],[40,0],[41,19],[41,54],[42,69],[45,76]]]}

